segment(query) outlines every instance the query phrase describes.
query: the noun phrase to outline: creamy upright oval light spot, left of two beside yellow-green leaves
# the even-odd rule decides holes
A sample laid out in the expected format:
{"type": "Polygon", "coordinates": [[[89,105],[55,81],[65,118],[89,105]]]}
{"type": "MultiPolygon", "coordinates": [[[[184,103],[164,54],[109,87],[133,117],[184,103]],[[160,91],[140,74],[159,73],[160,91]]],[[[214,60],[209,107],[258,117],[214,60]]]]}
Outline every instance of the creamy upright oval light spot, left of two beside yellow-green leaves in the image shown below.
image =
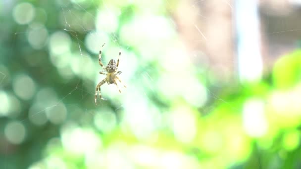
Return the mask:
{"type": "Polygon", "coordinates": [[[196,121],[191,110],[181,107],[172,113],[172,128],[179,141],[191,142],[196,135],[196,121]]]}

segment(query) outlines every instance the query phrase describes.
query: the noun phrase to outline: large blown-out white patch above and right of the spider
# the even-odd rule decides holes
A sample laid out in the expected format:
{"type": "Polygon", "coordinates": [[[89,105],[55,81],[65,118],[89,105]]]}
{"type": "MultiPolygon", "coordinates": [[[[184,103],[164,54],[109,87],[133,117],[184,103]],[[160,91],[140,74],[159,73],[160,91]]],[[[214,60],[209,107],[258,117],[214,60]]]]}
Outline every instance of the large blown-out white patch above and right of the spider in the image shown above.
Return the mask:
{"type": "MultiPolygon", "coordinates": [[[[130,22],[123,24],[119,32],[120,40],[129,46],[137,46],[136,51],[146,61],[157,61],[158,57],[164,58],[166,48],[172,46],[175,41],[174,28],[163,16],[136,16],[130,22]],[[164,45],[159,45],[158,42],[164,45]]],[[[169,62],[170,60],[165,63],[169,62]]]]}

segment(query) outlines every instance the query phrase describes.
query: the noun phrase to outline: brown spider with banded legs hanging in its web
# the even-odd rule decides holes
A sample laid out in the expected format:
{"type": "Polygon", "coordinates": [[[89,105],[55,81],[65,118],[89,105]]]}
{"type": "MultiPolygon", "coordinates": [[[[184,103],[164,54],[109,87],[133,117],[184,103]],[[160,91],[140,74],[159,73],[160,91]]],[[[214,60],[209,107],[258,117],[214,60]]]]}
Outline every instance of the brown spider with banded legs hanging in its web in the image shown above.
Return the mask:
{"type": "MultiPolygon", "coordinates": [[[[105,43],[102,44],[101,48],[104,46],[105,43]]],[[[109,61],[109,63],[106,65],[106,67],[103,66],[103,64],[101,63],[101,50],[100,50],[100,54],[99,54],[99,63],[100,63],[100,66],[103,68],[103,70],[100,70],[100,74],[101,75],[106,75],[105,79],[103,79],[102,81],[100,81],[99,84],[97,84],[96,86],[96,92],[95,92],[95,104],[97,104],[97,92],[99,93],[100,95],[100,99],[102,100],[105,100],[101,97],[101,93],[100,93],[100,86],[102,84],[105,84],[107,82],[107,84],[115,84],[119,90],[119,92],[121,93],[117,83],[116,83],[116,80],[118,80],[121,84],[121,80],[119,79],[119,77],[117,75],[120,75],[121,74],[121,71],[118,71],[117,72],[117,69],[118,69],[118,65],[119,65],[119,58],[120,58],[120,55],[121,55],[121,52],[119,52],[119,55],[118,55],[118,59],[117,59],[117,64],[115,62],[114,59],[111,59],[109,61]]],[[[124,84],[123,84],[124,87],[126,87],[124,84]]]]}

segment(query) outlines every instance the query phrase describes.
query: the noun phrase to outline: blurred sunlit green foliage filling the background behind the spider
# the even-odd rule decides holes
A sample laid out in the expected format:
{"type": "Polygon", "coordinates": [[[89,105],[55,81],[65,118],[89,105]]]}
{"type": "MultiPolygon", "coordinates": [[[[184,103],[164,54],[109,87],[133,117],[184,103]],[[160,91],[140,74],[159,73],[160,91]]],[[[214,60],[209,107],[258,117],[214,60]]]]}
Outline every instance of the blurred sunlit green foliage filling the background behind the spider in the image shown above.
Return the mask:
{"type": "Polygon", "coordinates": [[[185,52],[176,5],[0,2],[0,169],[301,168],[301,50],[261,82],[215,82],[185,52]],[[104,42],[127,88],[103,85],[95,105],[104,42]]]}

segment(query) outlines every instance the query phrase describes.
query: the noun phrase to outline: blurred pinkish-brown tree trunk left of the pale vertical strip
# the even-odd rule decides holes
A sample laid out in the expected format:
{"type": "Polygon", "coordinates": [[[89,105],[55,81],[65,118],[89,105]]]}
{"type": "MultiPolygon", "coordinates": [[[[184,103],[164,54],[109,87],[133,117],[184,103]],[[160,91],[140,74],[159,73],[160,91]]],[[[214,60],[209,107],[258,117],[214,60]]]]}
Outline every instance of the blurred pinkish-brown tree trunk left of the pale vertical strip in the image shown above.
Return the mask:
{"type": "Polygon", "coordinates": [[[236,62],[232,8],[232,0],[180,0],[174,13],[194,62],[208,64],[222,81],[233,78],[236,62]]]}

